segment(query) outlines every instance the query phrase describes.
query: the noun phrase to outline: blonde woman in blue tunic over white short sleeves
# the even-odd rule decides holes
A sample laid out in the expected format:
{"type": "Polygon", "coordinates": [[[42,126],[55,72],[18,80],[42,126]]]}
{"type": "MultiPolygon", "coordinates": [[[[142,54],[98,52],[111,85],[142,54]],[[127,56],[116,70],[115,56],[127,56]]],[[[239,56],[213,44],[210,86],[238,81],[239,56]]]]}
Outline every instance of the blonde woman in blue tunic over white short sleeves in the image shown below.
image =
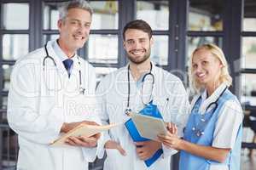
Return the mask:
{"type": "Polygon", "coordinates": [[[181,150],[181,170],[240,169],[242,111],[228,89],[232,79],[223,51],[213,44],[196,48],[190,59],[189,80],[197,95],[183,139],[173,133],[176,127],[171,124],[160,140],[181,150]]]}

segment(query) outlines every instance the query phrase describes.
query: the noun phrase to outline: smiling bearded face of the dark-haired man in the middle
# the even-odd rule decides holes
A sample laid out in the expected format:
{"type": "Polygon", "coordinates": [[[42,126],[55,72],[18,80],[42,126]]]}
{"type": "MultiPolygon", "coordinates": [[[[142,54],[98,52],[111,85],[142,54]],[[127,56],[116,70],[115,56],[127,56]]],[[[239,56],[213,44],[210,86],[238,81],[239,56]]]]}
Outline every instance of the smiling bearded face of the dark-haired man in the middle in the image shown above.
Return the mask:
{"type": "Polygon", "coordinates": [[[147,60],[150,57],[152,44],[153,39],[152,37],[149,39],[147,32],[137,29],[125,31],[124,48],[132,63],[141,64],[147,60]]]}

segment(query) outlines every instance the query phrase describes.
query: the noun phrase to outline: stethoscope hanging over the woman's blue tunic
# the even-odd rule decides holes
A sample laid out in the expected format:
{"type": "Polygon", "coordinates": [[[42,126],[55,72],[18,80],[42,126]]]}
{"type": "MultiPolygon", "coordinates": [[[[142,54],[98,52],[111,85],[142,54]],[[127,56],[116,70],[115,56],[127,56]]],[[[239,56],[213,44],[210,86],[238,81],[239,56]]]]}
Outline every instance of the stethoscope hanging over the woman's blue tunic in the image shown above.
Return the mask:
{"type": "MultiPolygon", "coordinates": [[[[227,89],[228,87],[226,87],[226,88],[224,88],[224,90],[221,92],[221,94],[218,96],[218,99],[224,94],[224,92],[226,91],[226,89],[227,89]]],[[[201,99],[201,97],[200,98],[198,98],[197,99],[197,101],[199,100],[199,99],[201,99]]],[[[208,109],[209,108],[212,108],[213,109],[213,111],[212,111],[212,114],[216,111],[216,109],[218,108],[218,99],[216,99],[214,102],[212,102],[212,103],[210,103],[208,106],[207,106],[207,109],[206,109],[206,111],[208,111],[208,109]]],[[[196,102],[197,102],[196,101],[196,102]]],[[[195,102],[195,103],[196,103],[195,102]]],[[[195,106],[194,106],[195,107],[195,106]]],[[[193,108],[194,109],[194,108],[193,108]]],[[[192,110],[193,111],[193,110],[192,110]]],[[[212,115],[211,115],[212,116],[212,115]]],[[[211,117],[209,117],[208,119],[206,119],[205,118],[205,114],[204,114],[204,116],[203,117],[201,117],[200,118],[200,122],[197,124],[197,125],[195,125],[195,122],[194,122],[194,127],[192,127],[192,131],[195,133],[195,135],[197,136],[197,137],[200,137],[201,135],[203,135],[204,134],[204,130],[203,129],[205,129],[205,127],[207,126],[207,122],[210,120],[210,118],[211,117]],[[200,128],[201,127],[201,128],[200,128]]],[[[195,121],[195,120],[194,120],[195,121]]]]}

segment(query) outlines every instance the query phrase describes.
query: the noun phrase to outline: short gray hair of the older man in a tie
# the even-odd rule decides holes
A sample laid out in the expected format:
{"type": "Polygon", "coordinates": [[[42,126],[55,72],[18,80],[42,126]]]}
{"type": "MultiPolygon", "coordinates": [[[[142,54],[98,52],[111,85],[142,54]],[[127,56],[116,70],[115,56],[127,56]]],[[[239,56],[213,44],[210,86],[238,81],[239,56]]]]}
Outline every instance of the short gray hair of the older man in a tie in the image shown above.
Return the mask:
{"type": "Polygon", "coordinates": [[[90,7],[90,4],[85,0],[73,0],[66,3],[61,3],[61,7],[59,8],[60,19],[65,19],[67,17],[67,11],[71,8],[81,8],[90,13],[90,16],[93,14],[93,10],[90,7]]]}

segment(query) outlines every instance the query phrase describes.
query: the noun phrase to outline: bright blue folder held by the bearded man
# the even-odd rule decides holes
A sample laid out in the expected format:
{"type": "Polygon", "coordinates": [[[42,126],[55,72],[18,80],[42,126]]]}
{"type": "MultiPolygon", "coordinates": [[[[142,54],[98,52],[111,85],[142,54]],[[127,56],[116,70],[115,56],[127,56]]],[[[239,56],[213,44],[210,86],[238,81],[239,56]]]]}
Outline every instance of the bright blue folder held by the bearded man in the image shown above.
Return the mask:
{"type": "MultiPolygon", "coordinates": [[[[163,118],[157,106],[152,104],[152,101],[149,102],[149,104],[145,108],[143,108],[142,111],[139,111],[139,114],[146,115],[146,116],[154,116],[161,119],[163,118]]],[[[131,118],[127,122],[125,122],[125,127],[127,128],[128,132],[130,133],[131,139],[134,142],[143,142],[143,141],[150,140],[150,139],[143,138],[138,133],[137,128],[134,122],[131,120],[131,118]]],[[[154,163],[154,161],[156,161],[162,154],[163,154],[162,149],[157,150],[152,157],[144,161],[146,166],[150,167],[154,163]]]]}

